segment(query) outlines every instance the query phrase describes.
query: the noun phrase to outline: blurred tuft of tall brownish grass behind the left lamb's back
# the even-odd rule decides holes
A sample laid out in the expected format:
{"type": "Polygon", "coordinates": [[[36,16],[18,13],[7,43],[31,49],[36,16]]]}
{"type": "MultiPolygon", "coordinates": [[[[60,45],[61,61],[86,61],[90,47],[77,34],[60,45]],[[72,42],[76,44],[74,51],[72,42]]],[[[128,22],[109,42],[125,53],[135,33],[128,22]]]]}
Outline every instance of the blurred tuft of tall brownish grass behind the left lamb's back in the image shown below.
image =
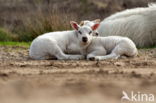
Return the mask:
{"type": "Polygon", "coordinates": [[[15,29],[15,32],[20,36],[20,41],[31,41],[38,35],[52,31],[70,30],[69,21],[72,19],[67,14],[49,13],[44,14],[37,11],[33,17],[22,19],[22,27],[15,29]]]}

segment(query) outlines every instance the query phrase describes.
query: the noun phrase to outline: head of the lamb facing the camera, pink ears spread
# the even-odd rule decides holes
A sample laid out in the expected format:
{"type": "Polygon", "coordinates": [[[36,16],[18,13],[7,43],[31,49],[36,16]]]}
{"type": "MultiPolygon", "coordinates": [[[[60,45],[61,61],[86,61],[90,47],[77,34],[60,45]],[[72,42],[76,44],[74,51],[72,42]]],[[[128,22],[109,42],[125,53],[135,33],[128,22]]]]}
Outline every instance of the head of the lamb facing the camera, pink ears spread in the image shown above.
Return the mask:
{"type": "Polygon", "coordinates": [[[76,30],[77,38],[80,44],[82,45],[90,44],[92,37],[94,35],[94,31],[96,31],[96,29],[99,26],[99,23],[95,23],[92,26],[87,26],[87,25],[80,26],[74,21],[71,21],[70,24],[72,28],[76,30]]]}

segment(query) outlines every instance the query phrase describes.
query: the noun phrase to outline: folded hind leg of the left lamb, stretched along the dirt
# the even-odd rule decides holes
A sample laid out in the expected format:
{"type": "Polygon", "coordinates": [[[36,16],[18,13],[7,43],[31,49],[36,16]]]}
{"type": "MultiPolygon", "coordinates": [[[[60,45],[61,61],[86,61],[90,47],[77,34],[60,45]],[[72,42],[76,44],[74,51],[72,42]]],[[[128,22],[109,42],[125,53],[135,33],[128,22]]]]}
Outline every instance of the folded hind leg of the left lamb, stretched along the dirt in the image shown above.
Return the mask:
{"type": "Polygon", "coordinates": [[[63,53],[59,46],[55,45],[50,52],[51,55],[54,55],[59,60],[79,60],[84,59],[83,55],[67,55],[63,53]],[[55,50],[54,50],[55,49],[55,50]]]}

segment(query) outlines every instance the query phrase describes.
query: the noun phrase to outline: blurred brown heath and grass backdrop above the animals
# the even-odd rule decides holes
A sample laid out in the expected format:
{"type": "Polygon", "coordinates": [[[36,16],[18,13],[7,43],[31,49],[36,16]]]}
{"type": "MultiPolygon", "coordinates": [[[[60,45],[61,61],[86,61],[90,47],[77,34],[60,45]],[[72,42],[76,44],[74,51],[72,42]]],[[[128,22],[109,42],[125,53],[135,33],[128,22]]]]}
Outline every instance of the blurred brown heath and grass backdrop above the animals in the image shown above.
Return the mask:
{"type": "Polygon", "coordinates": [[[156,0],[0,0],[0,41],[32,41],[69,30],[69,21],[94,20],[156,0]]]}

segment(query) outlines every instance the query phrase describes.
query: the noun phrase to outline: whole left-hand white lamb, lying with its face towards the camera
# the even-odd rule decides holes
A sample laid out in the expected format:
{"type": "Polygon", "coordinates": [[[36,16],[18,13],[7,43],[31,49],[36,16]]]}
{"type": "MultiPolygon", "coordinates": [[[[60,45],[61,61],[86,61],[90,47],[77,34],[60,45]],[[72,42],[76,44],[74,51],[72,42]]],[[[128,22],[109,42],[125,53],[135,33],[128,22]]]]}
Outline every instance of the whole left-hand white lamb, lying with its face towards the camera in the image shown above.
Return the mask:
{"type": "Polygon", "coordinates": [[[30,46],[30,58],[37,60],[83,59],[84,56],[80,55],[80,46],[86,44],[87,37],[92,36],[93,33],[89,34],[86,26],[81,27],[74,21],[70,23],[75,30],[45,33],[34,39],[30,46]]]}

